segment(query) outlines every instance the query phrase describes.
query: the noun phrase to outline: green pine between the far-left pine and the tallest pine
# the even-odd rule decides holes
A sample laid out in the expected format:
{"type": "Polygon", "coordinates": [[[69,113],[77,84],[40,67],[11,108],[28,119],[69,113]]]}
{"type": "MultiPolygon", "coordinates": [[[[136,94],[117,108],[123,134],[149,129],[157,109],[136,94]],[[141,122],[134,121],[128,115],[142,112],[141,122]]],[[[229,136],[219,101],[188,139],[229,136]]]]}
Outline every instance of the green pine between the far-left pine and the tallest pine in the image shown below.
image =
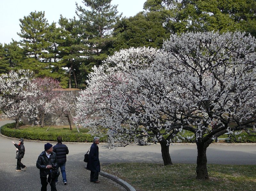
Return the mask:
{"type": "Polygon", "coordinates": [[[54,65],[56,69],[54,72],[64,74],[65,71],[61,67],[67,67],[68,74],[66,76],[62,75],[60,81],[64,82],[65,76],[65,81],[67,81],[66,78],[68,78],[67,85],[69,88],[74,86],[78,88],[79,82],[84,81],[79,68],[80,65],[87,60],[87,58],[84,57],[84,51],[87,49],[87,46],[83,42],[86,36],[84,35],[80,22],[75,18],[67,19],[60,16],[59,25],[60,32],[55,31],[58,35],[56,34],[53,38],[59,45],[55,48],[57,51],[55,53],[58,53],[61,60],[54,65]]]}

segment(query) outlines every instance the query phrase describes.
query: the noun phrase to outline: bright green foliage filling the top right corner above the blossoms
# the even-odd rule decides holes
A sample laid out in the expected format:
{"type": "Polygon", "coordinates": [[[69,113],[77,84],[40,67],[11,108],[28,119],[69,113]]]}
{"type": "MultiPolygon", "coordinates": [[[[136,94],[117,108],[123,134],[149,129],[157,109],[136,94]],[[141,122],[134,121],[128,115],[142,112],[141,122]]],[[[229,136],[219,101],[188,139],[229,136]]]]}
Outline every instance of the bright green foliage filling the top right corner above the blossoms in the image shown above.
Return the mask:
{"type": "Polygon", "coordinates": [[[248,31],[255,33],[255,0],[147,0],[144,9],[160,12],[172,33],[248,31]]]}

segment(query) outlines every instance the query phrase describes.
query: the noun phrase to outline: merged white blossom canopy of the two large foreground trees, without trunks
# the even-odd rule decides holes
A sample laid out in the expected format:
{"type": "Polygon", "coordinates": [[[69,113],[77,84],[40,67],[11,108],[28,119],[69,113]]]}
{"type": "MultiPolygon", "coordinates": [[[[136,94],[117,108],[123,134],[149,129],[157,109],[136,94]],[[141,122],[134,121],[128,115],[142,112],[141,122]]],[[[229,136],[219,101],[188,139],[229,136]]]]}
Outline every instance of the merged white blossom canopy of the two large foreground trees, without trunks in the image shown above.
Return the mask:
{"type": "Polygon", "coordinates": [[[163,49],[130,48],[94,67],[77,100],[77,122],[113,129],[118,146],[192,139],[210,144],[251,131],[256,106],[256,40],[245,33],[172,35],[163,49]],[[176,137],[176,139],[174,139],[176,137]],[[181,138],[182,137],[182,138],[181,138]]]}

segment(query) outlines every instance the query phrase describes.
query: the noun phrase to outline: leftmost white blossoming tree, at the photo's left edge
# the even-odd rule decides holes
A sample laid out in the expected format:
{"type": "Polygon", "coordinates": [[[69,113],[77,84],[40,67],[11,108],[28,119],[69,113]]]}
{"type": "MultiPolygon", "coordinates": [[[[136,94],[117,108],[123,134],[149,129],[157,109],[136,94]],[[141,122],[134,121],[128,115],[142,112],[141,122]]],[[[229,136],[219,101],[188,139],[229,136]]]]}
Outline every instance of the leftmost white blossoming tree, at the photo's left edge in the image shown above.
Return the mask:
{"type": "Polygon", "coordinates": [[[6,117],[16,121],[16,129],[21,116],[35,117],[34,112],[30,112],[36,111],[31,97],[39,90],[32,83],[31,77],[29,70],[10,71],[0,76],[0,109],[6,117]]]}

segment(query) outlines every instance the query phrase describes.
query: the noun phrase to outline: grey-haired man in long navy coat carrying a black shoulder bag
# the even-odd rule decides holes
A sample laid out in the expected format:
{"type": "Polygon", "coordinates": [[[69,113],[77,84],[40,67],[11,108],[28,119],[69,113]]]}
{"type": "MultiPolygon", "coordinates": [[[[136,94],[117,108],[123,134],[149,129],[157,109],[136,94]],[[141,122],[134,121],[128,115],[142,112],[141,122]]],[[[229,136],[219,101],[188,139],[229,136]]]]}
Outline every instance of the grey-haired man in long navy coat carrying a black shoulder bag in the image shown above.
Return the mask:
{"type": "Polygon", "coordinates": [[[86,169],[91,171],[90,182],[100,183],[99,172],[100,172],[100,160],[99,160],[99,147],[97,144],[100,143],[99,137],[93,138],[93,143],[89,153],[89,160],[86,169]]]}

